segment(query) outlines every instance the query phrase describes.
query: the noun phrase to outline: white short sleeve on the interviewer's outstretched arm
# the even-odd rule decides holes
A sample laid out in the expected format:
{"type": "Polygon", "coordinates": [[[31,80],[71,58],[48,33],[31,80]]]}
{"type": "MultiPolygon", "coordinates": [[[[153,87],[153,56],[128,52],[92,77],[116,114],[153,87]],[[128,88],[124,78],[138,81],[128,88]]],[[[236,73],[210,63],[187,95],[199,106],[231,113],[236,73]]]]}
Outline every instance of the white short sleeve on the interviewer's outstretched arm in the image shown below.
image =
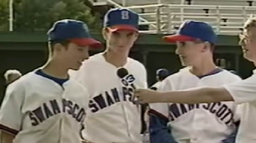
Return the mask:
{"type": "Polygon", "coordinates": [[[225,85],[224,88],[229,91],[237,104],[256,101],[256,74],[251,77],[225,85]]]}

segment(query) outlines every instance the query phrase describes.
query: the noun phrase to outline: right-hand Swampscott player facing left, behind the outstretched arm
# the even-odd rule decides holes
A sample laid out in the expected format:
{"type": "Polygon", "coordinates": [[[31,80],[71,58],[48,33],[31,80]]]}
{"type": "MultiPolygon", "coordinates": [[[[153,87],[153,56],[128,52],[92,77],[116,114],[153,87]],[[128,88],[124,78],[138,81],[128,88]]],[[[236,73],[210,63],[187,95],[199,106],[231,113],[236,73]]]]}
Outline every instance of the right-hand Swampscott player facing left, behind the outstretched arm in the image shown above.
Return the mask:
{"type": "MultiPolygon", "coordinates": [[[[158,91],[220,87],[241,80],[214,64],[213,50],[217,36],[209,24],[187,20],[181,24],[177,34],[166,36],[164,40],[177,43],[175,52],[182,66],[186,67],[166,77],[158,91]]],[[[234,102],[151,103],[150,107],[152,143],[234,143],[235,135],[232,133],[236,131],[236,122],[239,121],[239,108],[234,102]],[[170,131],[167,124],[171,127],[170,131]],[[172,136],[166,135],[170,133],[172,136]]]]}

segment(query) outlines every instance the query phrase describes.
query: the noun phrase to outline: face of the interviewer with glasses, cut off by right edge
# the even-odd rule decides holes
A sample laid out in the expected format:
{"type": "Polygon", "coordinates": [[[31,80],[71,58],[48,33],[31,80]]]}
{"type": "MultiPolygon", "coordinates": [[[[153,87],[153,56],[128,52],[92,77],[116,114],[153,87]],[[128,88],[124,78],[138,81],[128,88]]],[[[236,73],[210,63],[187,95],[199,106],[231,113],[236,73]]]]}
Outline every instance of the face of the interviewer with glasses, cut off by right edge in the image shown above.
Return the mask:
{"type": "Polygon", "coordinates": [[[244,29],[243,34],[239,35],[244,57],[249,61],[256,61],[256,27],[244,29]]]}

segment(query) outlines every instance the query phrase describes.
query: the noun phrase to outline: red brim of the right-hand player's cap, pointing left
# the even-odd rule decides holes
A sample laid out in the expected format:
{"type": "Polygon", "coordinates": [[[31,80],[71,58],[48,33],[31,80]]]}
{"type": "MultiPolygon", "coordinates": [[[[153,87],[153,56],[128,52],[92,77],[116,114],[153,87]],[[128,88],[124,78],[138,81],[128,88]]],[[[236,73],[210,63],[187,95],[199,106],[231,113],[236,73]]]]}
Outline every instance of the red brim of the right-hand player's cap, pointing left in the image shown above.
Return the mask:
{"type": "Polygon", "coordinates": [[[174,43],[177,41],[195,41],[196,38],[190,37],[190,36],[185,36],[185,35],[175,34],[175,35],[170,35],[170,36],[164,36],[163,40],[166,42],[174,43]]]}

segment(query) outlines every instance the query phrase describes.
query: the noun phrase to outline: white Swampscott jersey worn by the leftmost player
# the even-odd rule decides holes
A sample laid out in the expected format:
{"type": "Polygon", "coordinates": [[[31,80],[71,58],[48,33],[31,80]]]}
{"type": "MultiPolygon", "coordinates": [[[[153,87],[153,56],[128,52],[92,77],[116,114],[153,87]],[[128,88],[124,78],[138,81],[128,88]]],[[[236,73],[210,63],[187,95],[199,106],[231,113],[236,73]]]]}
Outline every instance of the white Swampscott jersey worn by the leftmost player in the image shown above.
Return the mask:
{"type": "Polygon", "coordinates": [[[27,73],[8,86],[0,110],[0,129],[15,135],[14,143],[81,143],[86,88],[70,79],[62,86],[27,73]]]}

